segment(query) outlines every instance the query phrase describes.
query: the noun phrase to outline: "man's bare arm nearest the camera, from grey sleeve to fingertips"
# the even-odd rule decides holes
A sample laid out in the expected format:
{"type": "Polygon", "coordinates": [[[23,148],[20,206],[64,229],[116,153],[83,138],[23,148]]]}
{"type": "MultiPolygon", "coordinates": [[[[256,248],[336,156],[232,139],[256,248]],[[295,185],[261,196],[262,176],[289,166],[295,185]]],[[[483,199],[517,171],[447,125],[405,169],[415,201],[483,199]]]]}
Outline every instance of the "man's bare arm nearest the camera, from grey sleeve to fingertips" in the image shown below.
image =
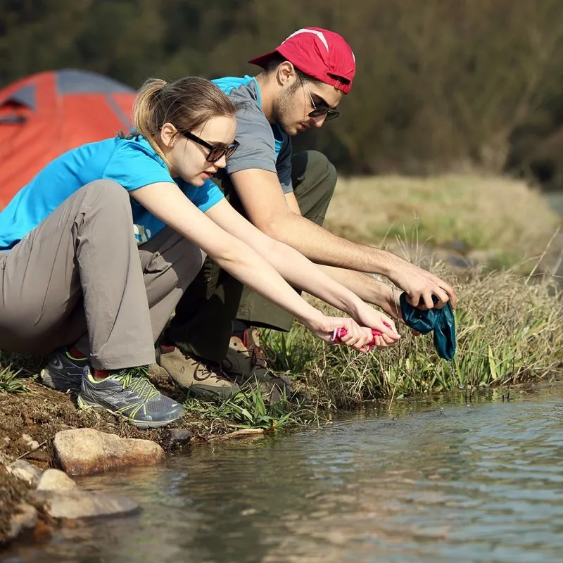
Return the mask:
{"type": "Polygon", "coordinates": [[[455,291],[434,274],[379,248],[342,239],[295,213],[286,202],[274,172],[240,170],[230,177],[251,222],[313,262],[383,274],[408,293],[412,305],[422,300],[426,307],[432,308],[432,295],[435,295],[439,299],[438,307],[447,301],[455,306],[455,291]]]}

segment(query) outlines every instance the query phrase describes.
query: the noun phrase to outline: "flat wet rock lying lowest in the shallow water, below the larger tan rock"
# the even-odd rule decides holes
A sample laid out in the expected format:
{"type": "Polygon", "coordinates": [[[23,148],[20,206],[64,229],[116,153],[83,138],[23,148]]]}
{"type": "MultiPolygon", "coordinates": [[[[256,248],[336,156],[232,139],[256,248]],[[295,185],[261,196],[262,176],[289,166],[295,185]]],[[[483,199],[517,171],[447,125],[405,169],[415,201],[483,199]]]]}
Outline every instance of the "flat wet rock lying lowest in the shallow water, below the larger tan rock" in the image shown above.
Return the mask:
{"type": "Polygon", "coordinates": [[[117,516],[137,512],[139,505],[133,500],[107,493],[87,491],[34,491],[33,498],[45,502],[45,509],[53,518],[94,518],[117,516]]]}

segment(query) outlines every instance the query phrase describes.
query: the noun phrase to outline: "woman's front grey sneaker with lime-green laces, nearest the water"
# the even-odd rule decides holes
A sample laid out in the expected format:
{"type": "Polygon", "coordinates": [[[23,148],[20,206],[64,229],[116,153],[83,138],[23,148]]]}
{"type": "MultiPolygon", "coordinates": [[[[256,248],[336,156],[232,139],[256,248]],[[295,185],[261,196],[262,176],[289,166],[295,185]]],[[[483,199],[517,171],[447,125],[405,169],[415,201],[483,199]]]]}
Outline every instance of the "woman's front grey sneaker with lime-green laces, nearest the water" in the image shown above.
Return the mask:
{"type": "Polygon", "coordinates": [[[179,419],[184,406],[157,391],[146,374],[146,368],[134,367],[110,372],[98,381],[85,367],[78,406],[107,410],[138,428],[158,428],[179,419]]]}

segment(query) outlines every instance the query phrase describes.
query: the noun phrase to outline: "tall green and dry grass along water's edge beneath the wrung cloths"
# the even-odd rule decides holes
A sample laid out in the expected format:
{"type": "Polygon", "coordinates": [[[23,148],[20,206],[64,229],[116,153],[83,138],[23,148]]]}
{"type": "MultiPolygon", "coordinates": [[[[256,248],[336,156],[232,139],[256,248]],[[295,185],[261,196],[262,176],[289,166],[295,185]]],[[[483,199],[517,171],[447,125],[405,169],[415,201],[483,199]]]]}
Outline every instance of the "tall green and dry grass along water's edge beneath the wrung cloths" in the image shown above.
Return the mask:
{"type": "Polygon", "coordinates": [[[563,301],[556,284],[514,271],[460,275],[444,265],[433,270],[453,281],[458,294],[452,362],[438,357],[431,334],[412,336],[404,325],[398,346],[361,355],[344,346],[324,346],[296,324],[289,334],[265,334],[269,346],[285,350],[277,368],[297,374],[317,402],[330,407],[458,388],[474,391],[562,373],[563,301]]]}

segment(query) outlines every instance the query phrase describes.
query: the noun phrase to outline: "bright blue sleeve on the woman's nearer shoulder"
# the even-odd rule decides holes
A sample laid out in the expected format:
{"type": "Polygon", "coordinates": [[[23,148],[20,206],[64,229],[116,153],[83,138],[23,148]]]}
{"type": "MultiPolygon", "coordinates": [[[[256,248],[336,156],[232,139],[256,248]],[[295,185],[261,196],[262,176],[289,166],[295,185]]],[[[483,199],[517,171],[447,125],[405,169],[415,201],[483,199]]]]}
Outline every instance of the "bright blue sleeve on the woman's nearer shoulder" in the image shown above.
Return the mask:
{"type": "Polygon", "coordinates": [[[122,146],[113,153],[103,178],[118,182],[127,191],[156,182],[173,182],[165,167],[134,144],[122,146]]]}

